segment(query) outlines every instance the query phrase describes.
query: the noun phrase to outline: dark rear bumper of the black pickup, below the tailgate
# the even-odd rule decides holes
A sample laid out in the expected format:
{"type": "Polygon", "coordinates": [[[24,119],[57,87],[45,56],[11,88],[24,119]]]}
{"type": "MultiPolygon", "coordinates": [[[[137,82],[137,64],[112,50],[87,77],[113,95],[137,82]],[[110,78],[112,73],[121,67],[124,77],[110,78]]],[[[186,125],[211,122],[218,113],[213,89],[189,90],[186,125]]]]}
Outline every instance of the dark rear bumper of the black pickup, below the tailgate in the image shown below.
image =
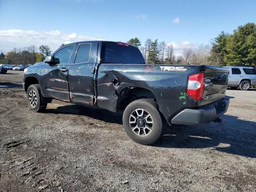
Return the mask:
{"type": "Polygon", "coordinates": [[[228,110],[229,99],[222,99],[214,104],[199,109],[184,109],[172,118],[172,124],[199,125],[216,120],[228,110]]]}

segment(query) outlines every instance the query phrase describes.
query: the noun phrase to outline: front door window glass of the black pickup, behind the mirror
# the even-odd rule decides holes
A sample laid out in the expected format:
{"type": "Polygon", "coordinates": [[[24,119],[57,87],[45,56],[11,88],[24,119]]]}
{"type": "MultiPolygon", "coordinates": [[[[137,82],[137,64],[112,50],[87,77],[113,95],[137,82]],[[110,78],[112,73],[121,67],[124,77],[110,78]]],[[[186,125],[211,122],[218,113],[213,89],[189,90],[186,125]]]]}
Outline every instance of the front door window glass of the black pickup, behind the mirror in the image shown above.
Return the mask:
{"type": "Polygon", "coordinates": [[[68,64],[74,45],[64,47],[54,54],[54,64],[68,64]]]}

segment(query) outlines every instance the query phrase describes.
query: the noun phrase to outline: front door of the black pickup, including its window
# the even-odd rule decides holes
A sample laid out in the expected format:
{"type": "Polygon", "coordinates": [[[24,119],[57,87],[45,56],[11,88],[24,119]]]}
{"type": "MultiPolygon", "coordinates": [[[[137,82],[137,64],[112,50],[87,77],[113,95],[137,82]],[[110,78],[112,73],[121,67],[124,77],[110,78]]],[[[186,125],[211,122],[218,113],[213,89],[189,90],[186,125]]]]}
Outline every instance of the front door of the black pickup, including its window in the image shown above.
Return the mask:
{"type": "Polygon", "coordinates": [[[60,48],[54,53],[54,64],[44,64],[41,85],[45,97],[70,102],[68,68],[74,48],[75,44],[60,48]]]}

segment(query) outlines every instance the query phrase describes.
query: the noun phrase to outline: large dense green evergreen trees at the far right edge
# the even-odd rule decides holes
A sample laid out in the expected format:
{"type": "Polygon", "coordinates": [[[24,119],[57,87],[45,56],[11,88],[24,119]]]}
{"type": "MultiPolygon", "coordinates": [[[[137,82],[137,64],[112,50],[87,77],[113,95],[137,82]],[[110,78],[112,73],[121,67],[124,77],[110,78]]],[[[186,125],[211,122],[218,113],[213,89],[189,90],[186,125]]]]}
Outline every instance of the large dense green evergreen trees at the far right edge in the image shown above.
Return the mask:
{"type": "Polygon", "coordinates": [[[256,25],[247,23],[228,38],[224,61],[228,66],[256,66],[256,25]]]}

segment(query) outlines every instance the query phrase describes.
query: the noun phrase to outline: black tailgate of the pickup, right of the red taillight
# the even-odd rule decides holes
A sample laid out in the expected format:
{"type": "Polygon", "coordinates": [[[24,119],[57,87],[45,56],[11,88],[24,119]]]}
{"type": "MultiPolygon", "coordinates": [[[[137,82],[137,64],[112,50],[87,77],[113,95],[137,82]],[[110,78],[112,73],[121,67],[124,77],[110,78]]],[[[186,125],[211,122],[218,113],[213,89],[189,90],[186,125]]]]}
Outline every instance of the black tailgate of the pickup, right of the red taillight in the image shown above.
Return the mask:
{"type": "Polygon", "coordinates": [[[228,69],[206,66],[201,106],[224,98],[228,85],[228,69]]]}

